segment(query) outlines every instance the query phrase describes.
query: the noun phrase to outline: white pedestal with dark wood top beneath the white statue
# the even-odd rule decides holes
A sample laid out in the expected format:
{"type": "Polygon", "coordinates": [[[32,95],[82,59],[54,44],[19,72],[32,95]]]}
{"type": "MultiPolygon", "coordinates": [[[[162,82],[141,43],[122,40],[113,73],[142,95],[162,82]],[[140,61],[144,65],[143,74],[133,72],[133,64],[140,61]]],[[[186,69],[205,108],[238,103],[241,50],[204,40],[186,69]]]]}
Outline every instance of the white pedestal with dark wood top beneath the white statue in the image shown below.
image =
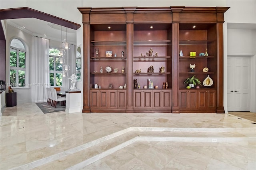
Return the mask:
{"type": "Polygon", "coordinates": [[[65,91],[66,92],[66,112],[80,112],[81,108],[81,91],[65,91]]]}

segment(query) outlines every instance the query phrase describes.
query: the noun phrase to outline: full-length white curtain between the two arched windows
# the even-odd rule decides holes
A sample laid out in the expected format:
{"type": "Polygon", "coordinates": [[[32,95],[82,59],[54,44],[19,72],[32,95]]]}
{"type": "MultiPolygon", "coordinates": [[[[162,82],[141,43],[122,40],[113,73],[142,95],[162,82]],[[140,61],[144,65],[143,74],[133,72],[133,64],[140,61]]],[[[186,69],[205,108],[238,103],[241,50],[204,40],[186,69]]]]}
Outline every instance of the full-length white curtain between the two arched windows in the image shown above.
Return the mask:
{"type": "Polygon", "coordinates": [[[33,36],[31,57],[32,101],[47,101],[47,89],[50,87],[49,40],[33,36]]]}

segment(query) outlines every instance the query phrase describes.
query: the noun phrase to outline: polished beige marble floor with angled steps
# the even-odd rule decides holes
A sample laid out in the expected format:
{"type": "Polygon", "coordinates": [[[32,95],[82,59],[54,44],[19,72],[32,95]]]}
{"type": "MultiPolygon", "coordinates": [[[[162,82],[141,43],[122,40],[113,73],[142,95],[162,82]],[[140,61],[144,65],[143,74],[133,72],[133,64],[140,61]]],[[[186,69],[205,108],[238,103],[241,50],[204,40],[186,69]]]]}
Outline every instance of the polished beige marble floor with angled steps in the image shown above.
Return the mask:
{"type": "Polygon", "coordinates": [[[0,169],[255,170],[256,124],[231,114],[48,113],[0,116],[0,169]]]}

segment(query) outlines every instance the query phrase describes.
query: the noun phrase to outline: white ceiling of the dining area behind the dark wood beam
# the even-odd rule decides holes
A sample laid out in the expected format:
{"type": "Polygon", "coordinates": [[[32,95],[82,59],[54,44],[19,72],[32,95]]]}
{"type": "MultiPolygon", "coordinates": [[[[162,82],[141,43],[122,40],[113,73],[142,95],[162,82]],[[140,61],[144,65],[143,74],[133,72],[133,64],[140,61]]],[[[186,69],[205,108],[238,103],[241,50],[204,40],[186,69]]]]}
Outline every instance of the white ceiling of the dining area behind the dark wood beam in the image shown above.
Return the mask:
{"type": "Polygon", "coordinates": [[[60,41],[62,34],[62,41],[67,37],[67,42],[76,44],[76,30],[71,28],[67,28],[36,18],[8,19],[6,21],[8,24],[32,36],[60,41]],[[62,32],[60,30],[62,30],[62,32]]]}

